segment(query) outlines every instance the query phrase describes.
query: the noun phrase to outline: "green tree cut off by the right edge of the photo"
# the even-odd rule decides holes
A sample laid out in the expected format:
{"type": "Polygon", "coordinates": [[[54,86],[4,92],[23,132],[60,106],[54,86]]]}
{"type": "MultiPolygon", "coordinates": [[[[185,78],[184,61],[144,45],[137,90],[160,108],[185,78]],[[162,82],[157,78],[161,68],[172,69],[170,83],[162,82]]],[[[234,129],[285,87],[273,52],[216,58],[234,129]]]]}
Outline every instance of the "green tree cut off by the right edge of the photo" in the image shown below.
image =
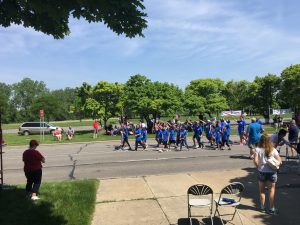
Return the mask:
{"type": "Polygon", "coordinates": [[[281,73],[281,99],[294,110],[300,110],[300,64],[292,65],[281,73]]]}

